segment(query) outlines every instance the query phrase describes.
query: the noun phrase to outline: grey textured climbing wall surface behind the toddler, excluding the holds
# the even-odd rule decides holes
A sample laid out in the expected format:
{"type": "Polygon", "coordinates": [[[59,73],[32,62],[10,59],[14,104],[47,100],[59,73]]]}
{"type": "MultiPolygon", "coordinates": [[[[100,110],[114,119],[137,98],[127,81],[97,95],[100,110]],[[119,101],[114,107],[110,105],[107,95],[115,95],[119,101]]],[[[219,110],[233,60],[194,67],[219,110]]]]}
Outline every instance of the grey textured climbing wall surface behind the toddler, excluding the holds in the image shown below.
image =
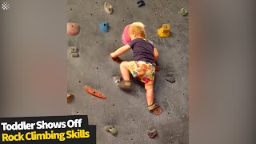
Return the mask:
{"type": "MultiPolygon", "coordinates": [[[[68,37],[68,46],[77,46],[78,58],[72,58],[67,48],[68,92],[74,100],[68,103],[70,114],[89,115],[90,125],[97,125],[97,143],[102,144],[184,144],[188,143],[188,17],[178,11],[188,8],[185,0],[146,0],[138,7],[136,0],[68,0],[67,20],[80,26],[80,33],[68,37]],[[103,9],[104,2],[113,6],[113,14],[103,9]],[[109,22],[110,30],[103,33],[98,24],[109,22]],[[162,106],[156,116],[147,110],[143,84],[132,79],[132,90],[125,92],[114,85],[113,76],[119,75],[119,64],[109,55],[122,46],[122,30],[132,22],[146,25],[146,34],[159,52],[159,66],[154,83],[154,102],[162,106]],[[160,38],[158,28],[171,26],[171,36],[160,38]],[[172,76],[174,83],[166,81],[172,76]],[[106,95],[106,99],[87,94],[84,85],[106,95]],[[113,136],[104,126],[114,125],[113,136]],[[156,129],[158,135],[149,138],[147,130],[156,129]]],[[[120,58],[132,60],[132,51],[120,58]]]]}

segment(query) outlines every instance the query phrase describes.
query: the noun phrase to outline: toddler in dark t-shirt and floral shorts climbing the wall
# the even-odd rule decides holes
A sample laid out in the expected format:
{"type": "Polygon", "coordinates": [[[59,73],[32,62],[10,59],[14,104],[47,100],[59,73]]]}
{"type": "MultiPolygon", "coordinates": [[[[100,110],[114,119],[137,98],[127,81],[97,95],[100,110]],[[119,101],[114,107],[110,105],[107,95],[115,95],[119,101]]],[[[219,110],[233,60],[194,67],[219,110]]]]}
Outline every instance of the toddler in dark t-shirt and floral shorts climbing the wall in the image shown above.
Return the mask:
{"type": "Polygon", "coordinates": [[[154,104],[154,74],[158,50],[154,47],[153,42],[146,40],[145,26],[142,22],[132,23],[128,34],[131,41],[110,54],[111,58],[118,58],[127,50],[132,49],[134,52],[134,61],[121,62],[122,81],[118,82],[117,85],[121,89],[130,89],[130,73],[134,78],[139,78],[145,83],[146,101],[148,110],[151,111],[158,107],[157,104],[154,104]]]}

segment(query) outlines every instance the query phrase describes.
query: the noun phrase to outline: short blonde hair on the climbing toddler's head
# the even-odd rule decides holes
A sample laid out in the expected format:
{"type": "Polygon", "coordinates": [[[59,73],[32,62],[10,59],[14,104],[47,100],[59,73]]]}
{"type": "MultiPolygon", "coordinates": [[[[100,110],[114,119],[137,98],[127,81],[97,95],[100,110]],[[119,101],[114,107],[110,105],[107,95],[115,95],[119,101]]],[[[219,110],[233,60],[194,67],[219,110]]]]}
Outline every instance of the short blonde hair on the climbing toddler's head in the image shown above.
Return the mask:
{"type": "Polygon", "coordinates": [[[142,22],[134,22],[130,25],[129,32],[140,35],[142,38],[146,38],[145,25],[142,22]]]}

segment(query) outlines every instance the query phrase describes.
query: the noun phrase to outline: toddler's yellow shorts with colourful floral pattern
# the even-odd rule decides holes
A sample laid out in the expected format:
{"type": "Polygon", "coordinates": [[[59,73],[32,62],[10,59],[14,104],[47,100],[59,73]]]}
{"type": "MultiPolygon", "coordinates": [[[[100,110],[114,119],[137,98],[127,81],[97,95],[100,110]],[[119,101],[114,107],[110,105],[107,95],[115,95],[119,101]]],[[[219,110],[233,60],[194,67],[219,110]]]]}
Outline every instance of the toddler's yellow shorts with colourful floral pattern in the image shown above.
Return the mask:
{"type": "Polygon", "coordinates": [[[146,84],[154,84],[155,67],[150,62],[130,61],[128,69],[134,78],[140,78],[146,84]]]}

